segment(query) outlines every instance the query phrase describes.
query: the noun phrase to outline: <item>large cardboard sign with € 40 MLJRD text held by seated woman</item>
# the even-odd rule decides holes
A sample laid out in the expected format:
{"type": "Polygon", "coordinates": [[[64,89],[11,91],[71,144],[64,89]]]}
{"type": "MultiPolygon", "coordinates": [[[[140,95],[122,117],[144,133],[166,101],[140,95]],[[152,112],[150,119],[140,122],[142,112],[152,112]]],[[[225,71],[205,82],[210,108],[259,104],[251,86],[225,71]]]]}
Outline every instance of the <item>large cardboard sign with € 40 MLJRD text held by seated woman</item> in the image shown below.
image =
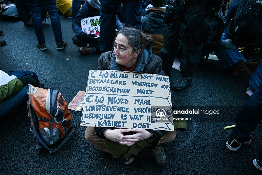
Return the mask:
{"type": "Polygon", "coordinates": [[[169,77],[90,70],[80,125],[173,131],[169,77]]]}

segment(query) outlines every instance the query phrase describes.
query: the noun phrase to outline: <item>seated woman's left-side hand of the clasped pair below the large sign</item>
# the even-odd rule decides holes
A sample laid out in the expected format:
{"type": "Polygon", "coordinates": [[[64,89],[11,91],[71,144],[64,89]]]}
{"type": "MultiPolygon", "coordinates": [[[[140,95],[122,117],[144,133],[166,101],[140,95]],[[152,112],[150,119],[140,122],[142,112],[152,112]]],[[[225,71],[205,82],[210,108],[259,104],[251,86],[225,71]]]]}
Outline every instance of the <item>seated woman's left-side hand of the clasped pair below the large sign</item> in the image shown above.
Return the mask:
{"type": "Polygon", "coordinates": [[[138,139],[122,138],[124,136],[122,133],[130,132],[130,131],[131,131],[131,128],[126,128],[126,129],[106,129],[106,130],[103,131],[103,134],[109,140],[112,140],[114,142],[118,142],[121,145],[131,146],[136,141],[138,141],[138,139]]]}

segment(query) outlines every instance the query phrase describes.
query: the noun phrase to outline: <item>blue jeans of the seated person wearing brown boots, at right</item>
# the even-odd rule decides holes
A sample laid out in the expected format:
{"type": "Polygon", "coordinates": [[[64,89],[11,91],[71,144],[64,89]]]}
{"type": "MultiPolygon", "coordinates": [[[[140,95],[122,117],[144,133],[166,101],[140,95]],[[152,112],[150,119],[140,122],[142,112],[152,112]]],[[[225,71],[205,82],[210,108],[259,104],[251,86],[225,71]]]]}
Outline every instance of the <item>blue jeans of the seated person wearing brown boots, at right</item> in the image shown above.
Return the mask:
{"type": "MultiPolygon", "coordinates": [[[[225,33],[222,34],[220,41],[228,39],[225,33]]],[[[231,67],[236,64],[239,60],[247,61],[244,56],[239,52],[235,46],[234,50],[232,49],[220,49],[215,50],[215,54],[219,59],[223,68],[231,67]]]]}

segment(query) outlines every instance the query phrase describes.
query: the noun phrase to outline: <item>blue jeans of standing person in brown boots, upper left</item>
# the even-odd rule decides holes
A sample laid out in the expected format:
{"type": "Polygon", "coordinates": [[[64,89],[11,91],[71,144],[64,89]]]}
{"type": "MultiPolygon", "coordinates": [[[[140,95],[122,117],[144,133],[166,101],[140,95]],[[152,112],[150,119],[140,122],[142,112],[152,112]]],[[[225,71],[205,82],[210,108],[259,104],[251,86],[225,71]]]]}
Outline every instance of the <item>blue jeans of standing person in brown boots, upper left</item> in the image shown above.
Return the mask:
{"type": "MultiPolygon", "coordinates": [[[[41,19],[41,5],[39,0],[26,0],[30,7],[30,14],[32,17],[32,24],[35,29],[36,38],[39,44],[45,43],[45,35],[43,32],[43,24],[41,19]]],[[[61,23],[59,14],[56,8],[55,0],[45,0],[45,7],[50,16],[51,25],[54,33],[54,38],[56,42],[61,42],[63,40],[61,23]]]]}

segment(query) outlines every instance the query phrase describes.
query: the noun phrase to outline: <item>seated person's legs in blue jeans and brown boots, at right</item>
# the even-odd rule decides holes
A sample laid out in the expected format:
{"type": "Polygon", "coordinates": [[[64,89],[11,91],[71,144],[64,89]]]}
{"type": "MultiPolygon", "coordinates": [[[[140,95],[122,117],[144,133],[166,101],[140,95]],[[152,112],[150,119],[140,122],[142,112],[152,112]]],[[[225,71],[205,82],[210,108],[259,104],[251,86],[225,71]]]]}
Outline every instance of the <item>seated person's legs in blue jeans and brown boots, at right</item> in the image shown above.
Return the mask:
{"type": "MultiPolygon", "coordinates": [[[[203,52],[209,48],[210,42],[211,41],[203,44],[203,52]]],[[[222,68],[230,67],[232,68],[233,75],[241,76],[246,79],[249,79],[252,75],[249,69],[256,69],[261,63],[247,61],[225,33],[222,34],[218,43],[213,44],[212,49],[215,51],[222,68]]],[[[203,52],[202,57],[204,56],[203,52]]]]}

